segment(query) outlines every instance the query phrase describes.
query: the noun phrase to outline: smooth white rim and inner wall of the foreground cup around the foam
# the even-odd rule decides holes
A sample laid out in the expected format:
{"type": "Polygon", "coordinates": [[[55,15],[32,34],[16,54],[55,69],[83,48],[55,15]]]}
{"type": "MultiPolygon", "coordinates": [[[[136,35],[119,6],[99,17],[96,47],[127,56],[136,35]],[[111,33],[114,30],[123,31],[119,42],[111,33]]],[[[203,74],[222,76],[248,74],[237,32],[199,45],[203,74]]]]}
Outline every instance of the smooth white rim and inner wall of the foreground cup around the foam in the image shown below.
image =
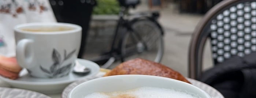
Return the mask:
{"type": "Polygon", "coordinates": [[[209,94],[192,84],[175,79],[150,75],[116,75],[89,80],[74,87],[68,98],[84,98],[95,92],[125,91],[138,87],[170,88],[211,98],[209,94]]]}

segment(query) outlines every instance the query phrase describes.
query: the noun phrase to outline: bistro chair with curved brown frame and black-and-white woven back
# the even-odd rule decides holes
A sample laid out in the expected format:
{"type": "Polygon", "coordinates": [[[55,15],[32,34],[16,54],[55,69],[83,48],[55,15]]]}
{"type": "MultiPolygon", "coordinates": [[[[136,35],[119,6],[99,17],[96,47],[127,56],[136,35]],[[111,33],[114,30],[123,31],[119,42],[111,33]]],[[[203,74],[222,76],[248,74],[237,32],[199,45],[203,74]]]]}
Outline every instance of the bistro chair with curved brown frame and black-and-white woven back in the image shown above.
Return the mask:
{"type": "Polygon", "coordinates": [[[189,77],[202,74],[205,42],[209,40],[214,65],[232,56],[256,51],[256,1],[223,0],[209,10],[193,32],[189,46],[189,77]]]}

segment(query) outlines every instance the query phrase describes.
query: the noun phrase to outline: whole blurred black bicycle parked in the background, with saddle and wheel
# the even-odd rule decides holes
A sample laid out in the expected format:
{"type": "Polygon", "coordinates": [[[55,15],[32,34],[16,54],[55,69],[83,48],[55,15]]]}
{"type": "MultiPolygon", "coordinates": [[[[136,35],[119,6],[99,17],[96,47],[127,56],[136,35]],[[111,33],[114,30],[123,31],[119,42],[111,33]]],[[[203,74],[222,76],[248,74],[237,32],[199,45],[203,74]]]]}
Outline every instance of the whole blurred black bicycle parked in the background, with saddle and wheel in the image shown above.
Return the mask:
{"type": "Polygon", "coordinates": [[[157,22],[159,12],[142,12],[130,15],[134,16],[132,19],[125,19],[128,9],[135,8],[140,0],[119,0],[119,3],[121,10],[111,50],[90,61],[101,65],[101,68],[108,68],[117,60],[123,62],[137,57],[159,63],[164,51],[164,31],[157,22]]]}

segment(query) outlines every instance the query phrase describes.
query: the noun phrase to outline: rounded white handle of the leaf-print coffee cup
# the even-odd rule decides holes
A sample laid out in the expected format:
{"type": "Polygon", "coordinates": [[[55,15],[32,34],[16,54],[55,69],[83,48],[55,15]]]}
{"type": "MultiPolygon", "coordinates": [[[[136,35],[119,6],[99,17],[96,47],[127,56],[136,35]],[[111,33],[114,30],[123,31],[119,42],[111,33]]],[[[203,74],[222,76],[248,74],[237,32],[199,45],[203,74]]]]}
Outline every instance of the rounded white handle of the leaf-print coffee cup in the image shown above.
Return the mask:
{"type": "Polygon", "coordinates": [[[35,66],[34,51],[31,46],[33,42],[34,41],[31,39],[21,39],[18,41],[16,46],[16,59],[21,67],[31,68],[35,66]]]}

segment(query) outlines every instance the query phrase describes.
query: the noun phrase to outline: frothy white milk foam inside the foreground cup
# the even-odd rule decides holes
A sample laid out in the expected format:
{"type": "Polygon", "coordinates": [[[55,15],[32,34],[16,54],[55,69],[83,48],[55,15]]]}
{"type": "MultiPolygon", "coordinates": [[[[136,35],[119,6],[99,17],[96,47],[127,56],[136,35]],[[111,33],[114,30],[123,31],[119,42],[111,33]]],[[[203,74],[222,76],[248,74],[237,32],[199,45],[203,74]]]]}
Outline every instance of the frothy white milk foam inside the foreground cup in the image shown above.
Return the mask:
{"type": "Polygon", "coordinates": [[[96,92],[85,98],[201,98],[199,95],[186,93],[184,91],[157,88],[140,87],[127,91],[114,91],[110,93],[96,92]]]}

